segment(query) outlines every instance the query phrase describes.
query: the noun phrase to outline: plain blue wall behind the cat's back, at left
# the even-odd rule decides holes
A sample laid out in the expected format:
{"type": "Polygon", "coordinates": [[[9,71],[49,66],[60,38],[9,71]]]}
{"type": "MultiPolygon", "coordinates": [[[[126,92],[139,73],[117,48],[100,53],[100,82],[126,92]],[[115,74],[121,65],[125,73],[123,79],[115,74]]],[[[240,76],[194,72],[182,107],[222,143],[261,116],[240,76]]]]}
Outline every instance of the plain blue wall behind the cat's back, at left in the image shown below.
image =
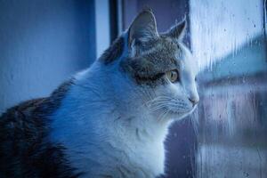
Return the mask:
{"type": "Polygon", "coordinates": [[[0,113],[95,60],[94,16],[93,0],[0,1],[0,113]]]}

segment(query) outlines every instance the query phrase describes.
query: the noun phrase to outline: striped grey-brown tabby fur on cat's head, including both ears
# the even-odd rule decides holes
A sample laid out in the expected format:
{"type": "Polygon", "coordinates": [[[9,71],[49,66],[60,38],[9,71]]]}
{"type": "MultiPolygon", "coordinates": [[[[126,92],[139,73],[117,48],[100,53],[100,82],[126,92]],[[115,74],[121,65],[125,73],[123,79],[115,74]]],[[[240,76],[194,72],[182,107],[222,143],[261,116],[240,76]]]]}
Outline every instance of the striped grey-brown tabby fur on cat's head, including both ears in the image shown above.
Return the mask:
{"type": "Polygon", "coordinates": [[[182,57],[179,43],[185,28],[186,21],[183,20],[166,33],[158,34],[153,13],[145,10],[135,18],[127,32],[101,55],[100,61],[110,65],[121,59],[121,68],[137,84],[165,84],[166,71],[179,69],[182,57]]]}

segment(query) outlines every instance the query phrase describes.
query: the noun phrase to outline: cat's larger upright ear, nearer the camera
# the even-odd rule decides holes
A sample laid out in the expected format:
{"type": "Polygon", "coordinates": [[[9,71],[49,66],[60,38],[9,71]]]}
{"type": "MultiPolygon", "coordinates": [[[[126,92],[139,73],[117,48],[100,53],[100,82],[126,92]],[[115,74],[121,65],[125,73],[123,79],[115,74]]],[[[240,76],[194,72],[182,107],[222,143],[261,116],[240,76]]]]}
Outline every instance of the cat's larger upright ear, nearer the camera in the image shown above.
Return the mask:
{"type": "Polygon", "coordinates": [[[128,44],[131,46],[134,41],[149,41],[156,36],[158,30],[155,16],[150,9],[146,9],[137,15],[128,29],[128,44]]]}

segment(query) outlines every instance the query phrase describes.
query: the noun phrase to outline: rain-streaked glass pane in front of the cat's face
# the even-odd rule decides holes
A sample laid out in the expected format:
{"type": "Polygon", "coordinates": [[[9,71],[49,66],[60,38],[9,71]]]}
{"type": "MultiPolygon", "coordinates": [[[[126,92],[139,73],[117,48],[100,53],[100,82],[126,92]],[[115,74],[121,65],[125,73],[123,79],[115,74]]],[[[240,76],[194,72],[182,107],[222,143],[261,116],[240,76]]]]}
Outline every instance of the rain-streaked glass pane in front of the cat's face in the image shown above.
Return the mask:
{"type": "Polygon", "coordinates": [[[194,113],[196,177],[267,177],[264,5],[263,0],[190,1],[201,95],[194,113]]]}

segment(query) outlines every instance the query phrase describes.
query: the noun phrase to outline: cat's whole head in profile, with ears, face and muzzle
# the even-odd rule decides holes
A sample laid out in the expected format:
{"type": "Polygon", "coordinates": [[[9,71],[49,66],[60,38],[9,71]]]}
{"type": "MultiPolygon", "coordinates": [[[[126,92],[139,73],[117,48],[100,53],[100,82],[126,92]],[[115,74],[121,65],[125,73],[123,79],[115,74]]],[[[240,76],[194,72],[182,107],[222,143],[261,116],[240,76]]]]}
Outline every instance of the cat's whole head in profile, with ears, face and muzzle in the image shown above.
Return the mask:
{"type": "MultiPolygon", "coordinates": [[[[159,34],[153,13],[145,10],[128,28],[125,39],[116,42],[117,45],[125,43],[123,56],[118,57],[121,72],[134,83],[134,91],[144,105],[159,118],[185,117],[198,104],[197,61],[182,44],[185,29],[183,20],[159,34]]],[[[105,58],[107,65],[114,60],[110,61],[114,51],[122,50],[116,44],[113,47],[109,58],[105,58]]]]}

